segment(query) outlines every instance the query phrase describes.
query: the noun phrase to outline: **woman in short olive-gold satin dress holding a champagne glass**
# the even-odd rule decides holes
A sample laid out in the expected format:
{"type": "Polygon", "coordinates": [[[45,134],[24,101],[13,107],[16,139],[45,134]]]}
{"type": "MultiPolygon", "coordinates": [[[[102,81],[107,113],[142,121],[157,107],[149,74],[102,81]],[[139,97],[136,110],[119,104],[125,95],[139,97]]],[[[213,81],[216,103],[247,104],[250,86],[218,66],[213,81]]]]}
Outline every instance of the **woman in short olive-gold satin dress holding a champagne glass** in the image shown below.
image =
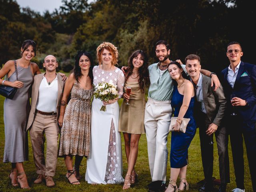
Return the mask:
{"type": "Polygon", "coordinates": [[[136,50],[128,60],[125,76],[124,100],[119,116],[119,130],[124,134],[125,153],[128,170],[124,179],[123,189],[130,188],[135,183],[137,174],[134,166],[138,156],[138,143],[141,134],[145,134],[145,86],[149,84],[148,62],[142,50],[136,50]],[[132,88],[130,96],[126,94],[127,87],[132,88]],[[125,103],[129,102],[130,105],[125,103]]]}

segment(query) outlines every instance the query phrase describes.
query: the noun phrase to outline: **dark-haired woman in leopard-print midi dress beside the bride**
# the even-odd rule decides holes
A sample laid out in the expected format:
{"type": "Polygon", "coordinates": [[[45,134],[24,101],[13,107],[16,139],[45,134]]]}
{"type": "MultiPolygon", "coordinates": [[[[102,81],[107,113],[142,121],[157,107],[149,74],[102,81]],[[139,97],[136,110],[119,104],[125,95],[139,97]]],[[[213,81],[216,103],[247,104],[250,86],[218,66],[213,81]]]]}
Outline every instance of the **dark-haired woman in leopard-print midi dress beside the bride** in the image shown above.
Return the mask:
{"type": "Polygon", "coordinates": [[[64,157],[66,178],[70,184],[80,184],[79,166],[83,156],[90,156],[91,105],[93,94],[93,59],[89,52],[79,51],[73,72],[65,84],[61,99],[59,156],[64,157]],[[71,94],[71,99],[66,103],[71,94]],[[73,168],[73,156],[76,156],[73,168]]]}

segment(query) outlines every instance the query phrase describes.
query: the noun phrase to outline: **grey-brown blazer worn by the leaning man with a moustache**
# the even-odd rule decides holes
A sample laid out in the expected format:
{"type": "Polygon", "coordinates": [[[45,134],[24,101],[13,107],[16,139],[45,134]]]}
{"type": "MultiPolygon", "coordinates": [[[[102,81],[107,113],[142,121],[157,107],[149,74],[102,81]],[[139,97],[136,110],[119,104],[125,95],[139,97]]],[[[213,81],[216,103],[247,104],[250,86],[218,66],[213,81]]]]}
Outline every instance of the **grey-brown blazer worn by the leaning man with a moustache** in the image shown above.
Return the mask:
{"type": "Polygon", "coordinates": [[[226,110],[226,98],[223,87],[220,85],[214,91],[214,87],[211,87],[211,78],[202,74],[202,90],[206,114],[212,123],[220,126],[226,110]]]}

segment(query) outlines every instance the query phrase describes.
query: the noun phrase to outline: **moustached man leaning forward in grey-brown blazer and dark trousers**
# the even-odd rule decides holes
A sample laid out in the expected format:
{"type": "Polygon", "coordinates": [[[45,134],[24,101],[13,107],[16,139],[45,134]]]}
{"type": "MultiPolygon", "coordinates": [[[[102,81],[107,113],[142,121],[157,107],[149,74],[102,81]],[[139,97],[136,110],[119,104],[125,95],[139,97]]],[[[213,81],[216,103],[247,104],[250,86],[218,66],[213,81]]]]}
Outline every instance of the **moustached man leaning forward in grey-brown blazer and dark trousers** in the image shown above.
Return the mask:
{"type": "Polygon", "coordinates": [[[221,186],[219,192],[226,192],[226,184],[230,182],[229,158],[228,158],[228,133],[226,127],[222,126],[224,111],[226,109],[226,98],[223,88],[214,91],[211,87],[211,78],[200,73],[200,57],[190,54],[185,58],[186,70],[194,84],[197,104],[195,107],[195,119],[199,127],[202,164],[204,169],[204,185],[200,192],[212,192],[213,173],[213,143],[215,138],[218,147],[219,169],[221,186]]]}

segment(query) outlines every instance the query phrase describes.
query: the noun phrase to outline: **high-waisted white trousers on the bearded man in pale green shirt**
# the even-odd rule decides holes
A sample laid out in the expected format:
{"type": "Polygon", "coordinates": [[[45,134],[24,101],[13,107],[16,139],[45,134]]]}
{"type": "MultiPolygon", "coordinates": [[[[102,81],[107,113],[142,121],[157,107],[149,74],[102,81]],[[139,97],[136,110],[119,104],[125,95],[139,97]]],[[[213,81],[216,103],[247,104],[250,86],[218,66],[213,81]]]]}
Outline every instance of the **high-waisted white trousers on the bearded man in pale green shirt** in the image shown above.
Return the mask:
{"type": "Polygon", "coordinates": [[[168,159],[167,136],[172,115],[170,101],[156,101],[148,97],[144,124],[148,142],[148,161],[152,181],[166,181],[168,159]]]}

